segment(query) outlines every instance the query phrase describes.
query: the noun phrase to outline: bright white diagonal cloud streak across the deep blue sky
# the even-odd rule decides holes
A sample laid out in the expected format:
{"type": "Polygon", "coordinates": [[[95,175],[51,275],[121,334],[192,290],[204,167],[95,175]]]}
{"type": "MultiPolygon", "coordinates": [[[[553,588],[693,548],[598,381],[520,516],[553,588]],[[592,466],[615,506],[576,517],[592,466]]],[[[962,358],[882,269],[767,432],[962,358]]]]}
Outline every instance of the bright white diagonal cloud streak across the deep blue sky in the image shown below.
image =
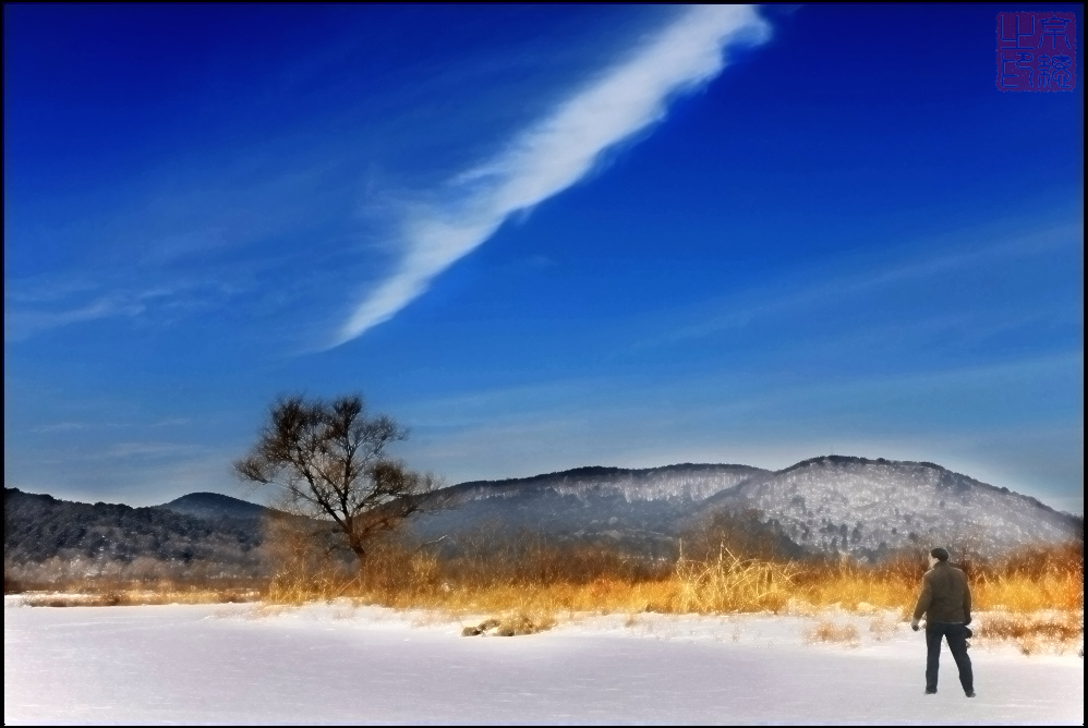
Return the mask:
{"type": "Polygon", "coordinates": [[[728,45],[754,45],[769,36],[769,25],[751,7],[685,11],[626,62],[519,135],[497,158],[451,180],[443,203],[412,210],[402,229],[399,266],[355,308],[331,345],[391,318],[511,215],[571,186],[609,147],[664,119],[670,100],[722,72],[728,45]]]}

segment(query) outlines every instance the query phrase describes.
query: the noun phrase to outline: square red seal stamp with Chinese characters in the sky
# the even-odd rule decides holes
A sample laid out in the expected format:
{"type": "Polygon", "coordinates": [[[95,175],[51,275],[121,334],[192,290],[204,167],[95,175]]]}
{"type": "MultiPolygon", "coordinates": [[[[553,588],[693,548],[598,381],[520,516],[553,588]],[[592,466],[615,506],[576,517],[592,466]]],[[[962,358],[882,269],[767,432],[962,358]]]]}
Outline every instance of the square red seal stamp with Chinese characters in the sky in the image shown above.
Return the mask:
{"type": "Polygon", "coordinates": [[[1073,13],[998,13],[998,88],[1062,92],[1077,87],[1073,13]]]}

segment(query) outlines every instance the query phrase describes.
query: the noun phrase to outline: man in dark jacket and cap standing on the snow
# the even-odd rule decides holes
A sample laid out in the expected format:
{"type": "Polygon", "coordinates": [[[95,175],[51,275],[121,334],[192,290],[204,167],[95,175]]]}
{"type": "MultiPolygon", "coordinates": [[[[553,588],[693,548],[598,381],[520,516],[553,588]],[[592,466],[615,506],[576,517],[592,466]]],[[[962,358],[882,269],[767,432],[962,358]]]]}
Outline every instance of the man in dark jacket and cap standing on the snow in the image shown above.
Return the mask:
{"type": "Polygon", "coordinates": [[[918,631],[918,621],[926,615],[926,694],[936,692],[936,671],[941,659],[941,640],[959,668],[959,684],[968,697],[975,697],[975,676],[967,656],[967,638],[971,623],[971,590],[967,574],[948,563],[948,551],[934,548],[929,553],[929,571],[922,579],[922,593],[915,605],[910,627],[918,631]]]}

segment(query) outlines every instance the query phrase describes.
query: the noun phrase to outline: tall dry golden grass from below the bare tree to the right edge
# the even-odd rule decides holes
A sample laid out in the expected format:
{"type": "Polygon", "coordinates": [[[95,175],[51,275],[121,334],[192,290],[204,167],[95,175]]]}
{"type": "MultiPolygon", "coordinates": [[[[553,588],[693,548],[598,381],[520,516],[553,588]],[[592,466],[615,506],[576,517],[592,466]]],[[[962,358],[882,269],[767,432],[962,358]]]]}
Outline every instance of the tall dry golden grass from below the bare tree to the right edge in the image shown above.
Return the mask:
{"type": "MultiPolygon", "coordinates": [[[[711,558],[680,557],[651,563],[589,546],[559,548],[535,542],[488,548],[439,558],[390,543],[372,554],[358,573],[346,574],[330,567],[303,574],[283,571],[273,580],[267,598],[300,604],[347,596],[360,603],[424,609],[454,618],[532,615],[531,621],[540,623],[579,612],[625,614],[628,622],[634,623],[643,612],[817,614],[835,608],[874,615],[869,632],[883,640],[898,624],[884,612],[897,612],[902,621],[909,619],[924,572],[924,555],[872,567],[847,561],[746,559],[722,547],[711,558]]],[[[1076,555],[1076,550],[1061,547],[966,566],[975,610],[1030,617],[1024,622],[1026,634],[1043,641],[1053,639],[1049,635],[1054,628],[1033,616],[1043,609],[1057,610],[1065,615],[1062,634],[1083,635],[1083,561],[1076,555]]],[[[856,641],[844,634],[824,630],[813,640],[856,641]]],[[[977,639],[1004,638],[983,628],[977,639]]]]}

